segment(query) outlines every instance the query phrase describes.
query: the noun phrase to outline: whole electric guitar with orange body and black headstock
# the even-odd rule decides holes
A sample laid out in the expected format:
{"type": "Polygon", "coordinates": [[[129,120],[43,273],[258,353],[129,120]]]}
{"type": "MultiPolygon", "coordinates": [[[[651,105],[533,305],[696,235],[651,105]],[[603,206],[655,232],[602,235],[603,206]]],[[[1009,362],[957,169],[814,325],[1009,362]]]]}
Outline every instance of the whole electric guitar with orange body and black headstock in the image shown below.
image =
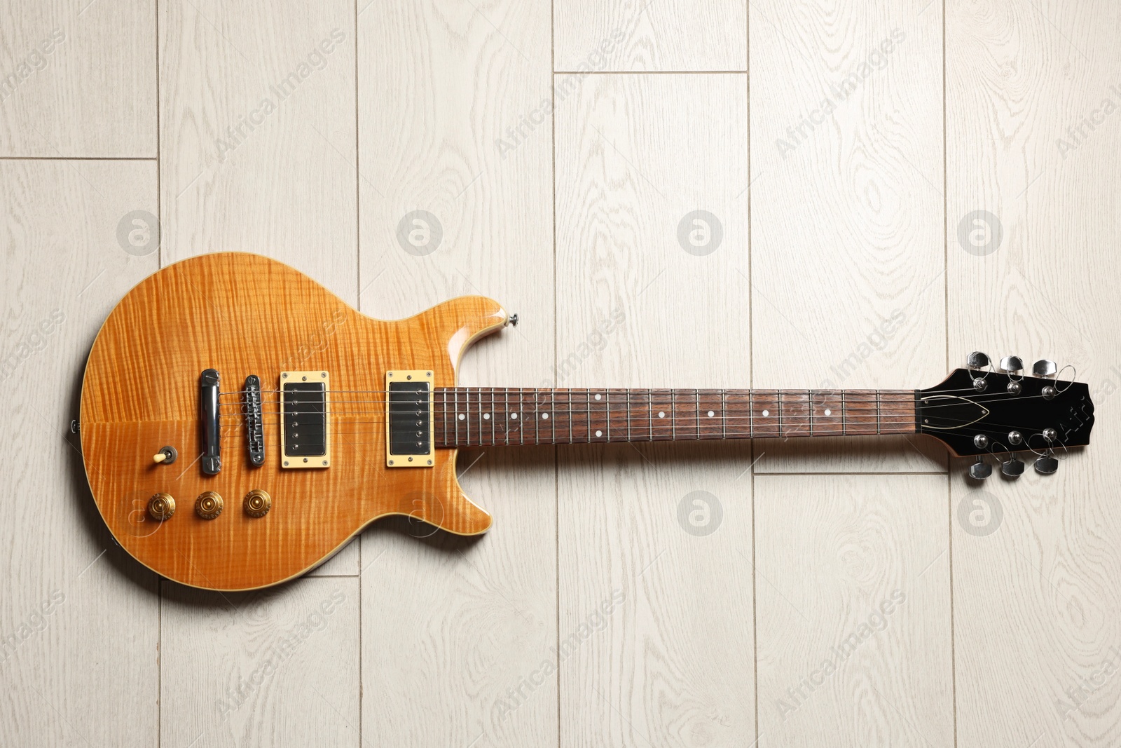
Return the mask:
{"type": "Polygon", "coordinates": [[[487,530],[463,495],[461,446],[929,434],[1051,473],[1094,423],[1086,385],[1015,357],[919,390],[458,387],[464,350],[516,324],[455,298],[407,320],[364,316],[265,257],[213,253],[150,276],[98,334],[82,384],[82,455],[117,542],[191,587],[248,590],[323,563],[368,524],[405,515],[487,530]]]}

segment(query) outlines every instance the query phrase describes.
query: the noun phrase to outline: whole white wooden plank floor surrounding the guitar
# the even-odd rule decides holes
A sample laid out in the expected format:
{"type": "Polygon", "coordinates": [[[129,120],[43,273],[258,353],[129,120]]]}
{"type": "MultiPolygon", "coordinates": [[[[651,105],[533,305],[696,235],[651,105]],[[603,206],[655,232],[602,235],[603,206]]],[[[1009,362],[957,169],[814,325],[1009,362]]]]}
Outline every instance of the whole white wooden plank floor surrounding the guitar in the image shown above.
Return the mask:
{"type": "Polygon", "coordinates": [[[7,3],[0,745],[1121,745],[1119,27],[7,3]],[[67,425],[112,304],[216,250],[380,317],[500,299],[467,385],[911,388],[980,349],[1077,367],[1094,444],[981,487],[915,437],[475,450],[483,538],[387,521],[209,594],[113,545],[67,425]]]}

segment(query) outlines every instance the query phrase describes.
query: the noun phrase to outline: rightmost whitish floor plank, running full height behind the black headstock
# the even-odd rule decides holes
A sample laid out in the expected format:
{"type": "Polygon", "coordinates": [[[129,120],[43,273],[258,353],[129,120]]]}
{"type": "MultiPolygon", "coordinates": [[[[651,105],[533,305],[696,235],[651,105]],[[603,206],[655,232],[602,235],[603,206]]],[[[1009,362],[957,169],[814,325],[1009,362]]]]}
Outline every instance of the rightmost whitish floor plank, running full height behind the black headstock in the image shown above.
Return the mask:
{"type": "Polygon", "coordinates": [[[952,508],[993,529],[954,523],[958,744],[1112,746],[1121,740],[1112,470],[1121,313],[1111,301],[1121,270],[1111,249],[1121,229],[1121,17],[1108,3],[952,10],[949,350],[1071,363],[1090,382],[1097,424],[1094,443],[1060,455],[1054,475],[979,488],[955,472],[952,508]],[[974,211],[994,220],[974,222],[974,211]]]}

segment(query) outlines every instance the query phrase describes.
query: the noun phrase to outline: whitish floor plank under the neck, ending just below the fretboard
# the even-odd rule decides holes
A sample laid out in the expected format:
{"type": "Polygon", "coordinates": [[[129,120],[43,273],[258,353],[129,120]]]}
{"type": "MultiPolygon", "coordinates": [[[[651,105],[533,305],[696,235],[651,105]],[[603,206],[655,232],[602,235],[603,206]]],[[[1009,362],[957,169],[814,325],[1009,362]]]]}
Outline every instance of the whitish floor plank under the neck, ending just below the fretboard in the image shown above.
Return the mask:
{"type": "MultiPolygon", "coordinates": [[[[930,387],[947,370],[941,12],[750,6],[756,387],[930,387]]],[[[925,437],[763,449],[757,472],[945,469],[925,437]]]]}

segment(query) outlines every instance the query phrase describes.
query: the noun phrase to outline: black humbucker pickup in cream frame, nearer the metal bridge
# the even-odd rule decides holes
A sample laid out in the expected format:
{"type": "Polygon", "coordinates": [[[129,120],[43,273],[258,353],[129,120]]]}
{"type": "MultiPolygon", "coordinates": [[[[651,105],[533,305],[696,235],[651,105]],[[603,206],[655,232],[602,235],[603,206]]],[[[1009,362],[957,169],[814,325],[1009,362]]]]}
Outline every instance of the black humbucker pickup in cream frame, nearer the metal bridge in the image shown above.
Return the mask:
{"type": "Polygon", "coordinates": [[[330,468],[326,371],[280,372],[280,465],[330,468]]]}

